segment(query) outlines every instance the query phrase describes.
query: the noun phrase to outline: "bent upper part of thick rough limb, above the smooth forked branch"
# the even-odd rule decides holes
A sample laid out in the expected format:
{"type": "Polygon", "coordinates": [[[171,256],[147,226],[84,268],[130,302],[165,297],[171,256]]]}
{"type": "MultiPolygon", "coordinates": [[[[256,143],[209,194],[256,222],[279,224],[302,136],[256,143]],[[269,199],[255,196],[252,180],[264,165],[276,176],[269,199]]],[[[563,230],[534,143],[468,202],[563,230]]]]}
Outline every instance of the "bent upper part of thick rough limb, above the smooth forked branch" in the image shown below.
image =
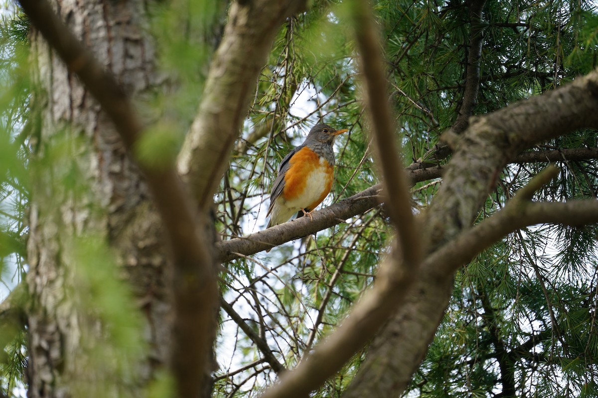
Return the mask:
{"type": "Polygon", "coordinates": [[[542,95],[476,117],[457,136],[426,229],[432,248],[471,226],[499,172],[523,149],[577,128],[598,127],[598,70],[542,95]]]}

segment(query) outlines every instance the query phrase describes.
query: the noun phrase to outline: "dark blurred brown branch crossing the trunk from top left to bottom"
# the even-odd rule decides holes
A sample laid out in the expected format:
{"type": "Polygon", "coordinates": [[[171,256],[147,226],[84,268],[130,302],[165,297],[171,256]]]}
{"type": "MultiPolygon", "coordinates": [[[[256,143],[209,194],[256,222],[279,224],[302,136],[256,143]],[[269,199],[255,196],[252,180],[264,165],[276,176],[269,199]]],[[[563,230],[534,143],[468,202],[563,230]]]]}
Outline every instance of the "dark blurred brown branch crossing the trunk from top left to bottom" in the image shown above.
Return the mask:
{"type": "MultiPolygon", "coordinates": [[[[126,93],[114,76],[103,69],[56,16],[46,0],[20,0],[33,26],[91,92],[114,122],[127,151],[131,153],[144,126],[126,93]]],[[[215,338],[218,287],[215,267],[198,217],[174,165],[152,168],[139,163],[167,231],[173,264],[174,319],[171,366],[178,394],[199,396],[209,373],[209,358],[215,338]]],[[[199,215],[203,225],[205,215],[199,215]]]]}

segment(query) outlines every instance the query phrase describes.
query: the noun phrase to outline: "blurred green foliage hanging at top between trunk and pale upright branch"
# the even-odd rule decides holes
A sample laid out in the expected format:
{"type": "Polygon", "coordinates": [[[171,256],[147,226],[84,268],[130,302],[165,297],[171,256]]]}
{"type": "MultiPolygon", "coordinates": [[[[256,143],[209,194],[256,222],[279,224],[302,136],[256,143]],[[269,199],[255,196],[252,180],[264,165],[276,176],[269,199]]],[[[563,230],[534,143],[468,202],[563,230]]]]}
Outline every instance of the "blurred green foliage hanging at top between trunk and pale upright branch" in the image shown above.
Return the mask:
{"type": "Polygon", "coordinates": [[[143,112],[158,121],[158,128],[141,144],[142,161],[155,160],[154,150],[162,144],[166,161],[178,152],[197,110],[226,7],[225,1],[151,2],[150,31],[157,41],[159,73],[168,80],[166,90],[144,98],[143,112]]]}

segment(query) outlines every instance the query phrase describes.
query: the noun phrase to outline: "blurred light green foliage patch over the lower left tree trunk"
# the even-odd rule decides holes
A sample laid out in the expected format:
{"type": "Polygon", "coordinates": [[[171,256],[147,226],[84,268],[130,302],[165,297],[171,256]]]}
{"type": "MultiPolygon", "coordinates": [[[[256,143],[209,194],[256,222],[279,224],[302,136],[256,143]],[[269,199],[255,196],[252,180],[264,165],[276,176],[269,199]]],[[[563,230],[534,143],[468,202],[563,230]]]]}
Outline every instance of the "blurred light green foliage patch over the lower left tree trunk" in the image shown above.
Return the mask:
{"type": "MultiPolygon", "coordinates": [[[[102,236],[72,236],[65,243],[66,261],[72,271],[67,297],[79,314],[81,325],[80,366],[82,375],[93,374],[105,384],[114,380],[131,380],[131,369],[141,363],[147,347],[142,334],[141,314],[135,306],[130,287],[118,278],[114,254],[102,236]],[[99,323],[98,323],[99,321],[99,323]],[[101,325],[101,331],[97,331],[101,325]]],[[[106,391],[129,394],[119,383],[106,391],[89,391],[85,377],[76,378],[75,391],[102,397],[106,391]]],[[[161,385],[160,391],[164,387],[161,385]]]]}

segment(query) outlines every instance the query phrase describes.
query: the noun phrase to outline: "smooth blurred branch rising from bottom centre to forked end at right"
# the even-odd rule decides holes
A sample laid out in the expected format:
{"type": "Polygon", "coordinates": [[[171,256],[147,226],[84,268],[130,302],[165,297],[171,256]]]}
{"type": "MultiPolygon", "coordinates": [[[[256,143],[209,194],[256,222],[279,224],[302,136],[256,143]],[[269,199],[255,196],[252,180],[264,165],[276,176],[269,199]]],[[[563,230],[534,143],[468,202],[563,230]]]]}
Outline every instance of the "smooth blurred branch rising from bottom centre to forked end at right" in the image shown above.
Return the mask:
{"type": "MultiPolygon", "coordinates": [[[[545,181],[547,175],[553,175],[554,169],[548,169],[529,184],[538,187],[539,181],[545,181]]],[[[578,200],[569,203],[532,203],[527,200],[527,191],[515,196],[505,208],[493,217],[484,220],[456,239],[442,246],[431,254],[422,264],[425,276],[435,279],[451,280],[454,271],[467,263],[476,254],[488,248],[507,233],[524,226],[538,223],[556,222],[565,224],[588,224],[598,222],[598,201],[578,200]],[[439,273],[439,270],[441,271],[439,273]]],[[[395,255],[392,251],[390,256],[395,255]]],[[[266,390],[263,398],[307,397],[313,389],[321,385],[326,378],[337,371],[377,329],[397,307],[401,307],[407,294],[418,288],[410,289],[410,280],[405,278],[404,267],[393,263],[399,258],[387,258],[380,267],[380,274],[368,291],[354,307],[347,319],[313,353],[301,362],[293,371],[284,374],[280,382],[266,390]]],[[[449,283],[449,286],[451,284],[449,283]]],[[[412,313],[413,315],[413,313],[412,313]]],[[[422,320],[419,314],[419,320],[422,320]]],[[[435,326],[434,326],[435,329],[435,326]]],[[[413,329],[411,332],[416,332],[413,329]]],[[[407,358],[402,358],[406,360],[407,358]]],[[[405,366],[416,366],[408,363],[405,366]]],[[[398,383],[396,379],[395,387],[398,383]]],[[[404,382],[408,381],[405,378],[404,382]]],[[[401,384],[401,387],[405,386],[401,384]]],[[[396,392],[396,389],[393,390],[396,392]]],[[[356,396],[356,390],[347,391],[347,396],[356,396]]]]}

